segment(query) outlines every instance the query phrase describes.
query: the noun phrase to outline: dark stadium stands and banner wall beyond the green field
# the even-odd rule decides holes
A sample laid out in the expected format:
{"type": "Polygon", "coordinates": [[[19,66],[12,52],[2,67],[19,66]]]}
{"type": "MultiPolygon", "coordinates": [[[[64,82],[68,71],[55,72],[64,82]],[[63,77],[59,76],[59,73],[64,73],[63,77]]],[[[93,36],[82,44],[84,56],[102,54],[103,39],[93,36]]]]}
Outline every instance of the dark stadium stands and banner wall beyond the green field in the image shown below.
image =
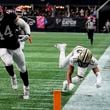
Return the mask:
{"type": "Polygon", "coordinates": [[[85,32],[89,16],[97,20],[97,32],[110,19],[110,0],[0,0],[7,12],[17,12],[32,31],[85,32]]]}

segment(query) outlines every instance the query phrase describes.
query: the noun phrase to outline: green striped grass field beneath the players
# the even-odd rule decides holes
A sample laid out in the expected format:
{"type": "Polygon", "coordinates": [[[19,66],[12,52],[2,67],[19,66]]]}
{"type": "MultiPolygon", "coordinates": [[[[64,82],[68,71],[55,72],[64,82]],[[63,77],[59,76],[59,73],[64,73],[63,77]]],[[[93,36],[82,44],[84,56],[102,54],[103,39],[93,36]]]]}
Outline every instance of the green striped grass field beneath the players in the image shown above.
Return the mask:
{"type": "MultiPolygon", "coordinates": [[[[25,45],[25,56],[30,80],[30,99],[23,100],[22,81],[15,67],[18,78],[18,90],[12,90],[10,78],[0,62],[0,110],[53,110],[52,91],[62,88],[66,78],[66,69],[58,68],[59,51],[54,48],[56,43],[67,43],[66,54],[73,47],[83,45],[99,59],[110,45],[109,34],[95,34],[94,45],[91,46],[86,33],[32,33],[33,43],[25,45]]],[[[75,71],[76,73],[76,71],[75,71]]],[[[62,95],[62,107],[74,94],[75,90],[62,95]]]]}

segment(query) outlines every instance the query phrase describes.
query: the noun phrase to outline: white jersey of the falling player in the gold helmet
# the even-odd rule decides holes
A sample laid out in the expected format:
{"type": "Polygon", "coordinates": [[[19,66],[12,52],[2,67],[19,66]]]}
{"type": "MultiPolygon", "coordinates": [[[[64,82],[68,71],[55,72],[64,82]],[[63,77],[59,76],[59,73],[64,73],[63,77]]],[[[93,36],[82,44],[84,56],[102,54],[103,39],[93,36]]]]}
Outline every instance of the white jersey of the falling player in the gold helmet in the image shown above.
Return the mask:
{"type": "MultiPolygon", "coordinates": [[[[69,59],[69,64],[74,66],[78,65],[78,56],[80,52],[84,49],[82,46],[77,46],[73,49],[72,56],[69,59]]],[[[95,57],[92,57],[89,65],[86,68],[94,68],[98,65],[98,61],[95,59],[95,57]]]]}

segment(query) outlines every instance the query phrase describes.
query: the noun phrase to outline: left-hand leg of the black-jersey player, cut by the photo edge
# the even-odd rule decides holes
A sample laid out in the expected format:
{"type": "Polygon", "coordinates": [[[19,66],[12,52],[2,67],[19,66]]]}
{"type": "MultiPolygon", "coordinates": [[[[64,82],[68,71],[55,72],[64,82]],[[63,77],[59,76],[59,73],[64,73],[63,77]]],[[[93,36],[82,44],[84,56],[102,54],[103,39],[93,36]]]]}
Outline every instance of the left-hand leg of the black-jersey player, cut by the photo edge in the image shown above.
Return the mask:
{"type": "Polygon", "coordinates": [[[12,88],[17,89],[17,79],[13,69],[12,55],[8,52],[7,49],[2,48],[0,49],[0,57],[5,65],[8,74],[10,75],[12,88]]]}

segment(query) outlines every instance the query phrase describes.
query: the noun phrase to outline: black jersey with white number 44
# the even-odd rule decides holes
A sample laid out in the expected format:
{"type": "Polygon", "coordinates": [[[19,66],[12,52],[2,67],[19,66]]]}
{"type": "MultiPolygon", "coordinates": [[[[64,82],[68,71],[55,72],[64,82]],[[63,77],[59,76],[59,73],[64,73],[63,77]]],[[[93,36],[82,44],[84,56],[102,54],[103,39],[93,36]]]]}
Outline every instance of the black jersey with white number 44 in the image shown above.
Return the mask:
{"type": "Polygon", "coordinates": [[[15,19],[17,15],[14,13],[5,13],[0,21],[0,48],[17,49],[20,44],[16,35],[15,19]]]}

